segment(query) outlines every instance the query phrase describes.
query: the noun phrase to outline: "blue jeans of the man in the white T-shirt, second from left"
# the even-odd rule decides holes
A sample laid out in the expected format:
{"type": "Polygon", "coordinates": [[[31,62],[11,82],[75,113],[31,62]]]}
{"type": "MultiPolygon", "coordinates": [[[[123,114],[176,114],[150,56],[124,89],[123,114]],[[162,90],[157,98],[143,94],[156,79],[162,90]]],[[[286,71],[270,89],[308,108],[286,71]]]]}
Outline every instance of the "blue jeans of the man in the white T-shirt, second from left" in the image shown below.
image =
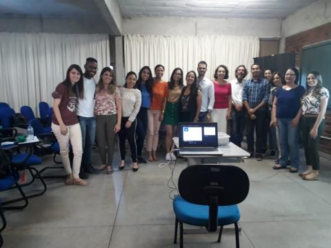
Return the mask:
{"type": "Polygon", "coordinates": [[[83,141],[83,158],[81,160],[81,167],[88,169],[91,166],[91,152],[92,145],[95,141],[95,130],[97,122],[95,117],[78,116],[79,124],[81,125],[81,138],[83,141]]]}

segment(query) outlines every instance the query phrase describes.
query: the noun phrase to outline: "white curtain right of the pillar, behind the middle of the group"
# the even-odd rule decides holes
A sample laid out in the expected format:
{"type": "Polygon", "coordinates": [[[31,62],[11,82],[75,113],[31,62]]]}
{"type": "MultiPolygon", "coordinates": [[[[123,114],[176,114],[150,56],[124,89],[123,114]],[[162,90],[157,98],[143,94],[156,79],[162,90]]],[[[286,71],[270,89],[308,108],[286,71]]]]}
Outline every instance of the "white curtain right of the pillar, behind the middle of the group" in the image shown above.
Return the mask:
{"type": "MultiPolygon", "coordinates": [[[[190,70],[197,71],[197,63],[206,61],[206,76],[213,79],[218,65],[229,69],[229,80],[234,79],[238,65],[250,68],[254,57],[259,56],[259,37],[230,35],[168,36],[168,35],[124,35],[124,58],[126,71],[139,72],[144,65],[165,66],[165,80],[174,68],[182,68],[184,76],[190,70]]],[[[185,82],[185,80],[184,80],[185,82]]]]}

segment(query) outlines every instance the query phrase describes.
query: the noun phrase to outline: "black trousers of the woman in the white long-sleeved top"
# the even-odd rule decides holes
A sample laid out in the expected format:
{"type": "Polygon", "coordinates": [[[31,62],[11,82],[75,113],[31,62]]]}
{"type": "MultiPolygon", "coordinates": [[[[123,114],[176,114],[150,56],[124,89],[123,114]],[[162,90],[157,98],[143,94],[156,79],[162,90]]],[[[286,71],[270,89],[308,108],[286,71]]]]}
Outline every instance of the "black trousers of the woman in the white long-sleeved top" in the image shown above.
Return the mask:
{"type": "Polygon", "coordinates": [[[132,163],[137,162],[137,143],[136,143],[136,127],[137,120],[132,122],[129,128],[126,128],[126,122],[129,117],[122,117],[121,119],[121,130],[119,130],[119,152],[121,154],[121,160],[126,159],[126,139],[128,139],[132,163]]]}

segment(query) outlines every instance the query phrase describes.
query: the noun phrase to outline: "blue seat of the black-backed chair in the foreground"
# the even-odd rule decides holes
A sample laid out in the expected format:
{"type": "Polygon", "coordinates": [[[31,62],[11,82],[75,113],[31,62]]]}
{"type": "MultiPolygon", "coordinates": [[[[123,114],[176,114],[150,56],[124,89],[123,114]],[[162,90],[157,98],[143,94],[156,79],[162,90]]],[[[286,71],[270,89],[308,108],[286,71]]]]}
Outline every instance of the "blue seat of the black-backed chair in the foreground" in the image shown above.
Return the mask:
{"type": "MultiPolygon", "coordinates": [[[[173,201],[176,218],[189,225],[201,227],[208,226],[209,207],[207,205],[197,205],[188,203],[186,200],[177,196],[173,201]]],[[[237,223],[240,219],[240,211],[237,205],[219,206],[218,223],[221,225],[230,225],[237,223]]]]}

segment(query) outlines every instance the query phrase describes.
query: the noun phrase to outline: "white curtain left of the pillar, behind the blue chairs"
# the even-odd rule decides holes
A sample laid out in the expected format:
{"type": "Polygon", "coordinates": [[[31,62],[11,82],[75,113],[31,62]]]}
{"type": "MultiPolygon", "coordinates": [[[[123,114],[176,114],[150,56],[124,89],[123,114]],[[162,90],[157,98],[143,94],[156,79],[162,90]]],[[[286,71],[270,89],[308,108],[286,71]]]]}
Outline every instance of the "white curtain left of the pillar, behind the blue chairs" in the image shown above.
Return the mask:
{"type": "Polygon", "coordinates": [[[51,105],[51,93],[68,67],[76,63],[84,72],[89,56],[99,68],[110,65],[108,34],[0,33],[0,101],[16,112],[29,105],[39,116],[38,103],[51,105]]]}

